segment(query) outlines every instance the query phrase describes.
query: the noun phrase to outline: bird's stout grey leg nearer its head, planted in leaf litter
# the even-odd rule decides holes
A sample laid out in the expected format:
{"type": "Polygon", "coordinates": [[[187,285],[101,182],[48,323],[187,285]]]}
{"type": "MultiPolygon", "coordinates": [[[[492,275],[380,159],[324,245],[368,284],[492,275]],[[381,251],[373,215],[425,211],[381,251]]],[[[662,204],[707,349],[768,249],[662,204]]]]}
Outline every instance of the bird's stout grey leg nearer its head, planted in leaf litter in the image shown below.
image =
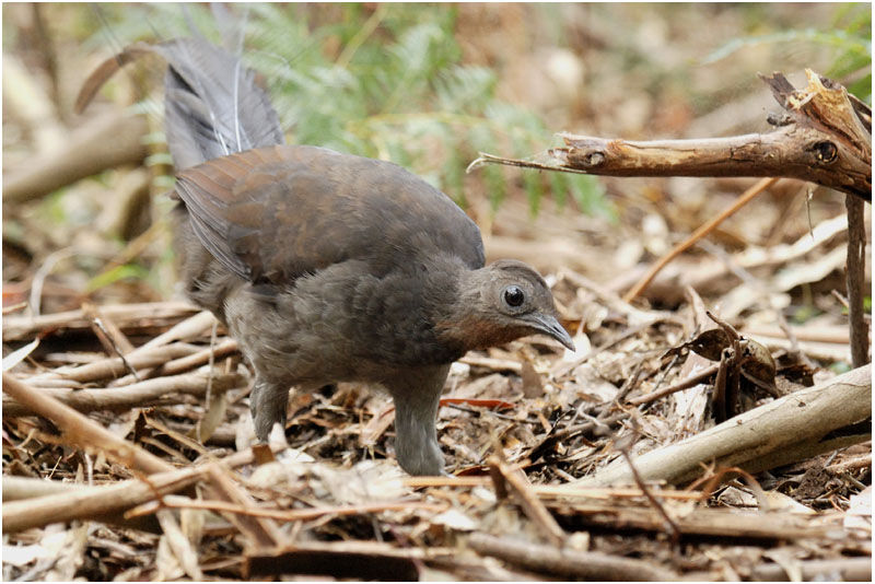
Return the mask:
{"type": "Polygon", "coordinates": [[[387,384],[395,401],[395,453],[410,475],[443,474],[434,423],[448,371],[448,366],[429,367],[387,384]]]}

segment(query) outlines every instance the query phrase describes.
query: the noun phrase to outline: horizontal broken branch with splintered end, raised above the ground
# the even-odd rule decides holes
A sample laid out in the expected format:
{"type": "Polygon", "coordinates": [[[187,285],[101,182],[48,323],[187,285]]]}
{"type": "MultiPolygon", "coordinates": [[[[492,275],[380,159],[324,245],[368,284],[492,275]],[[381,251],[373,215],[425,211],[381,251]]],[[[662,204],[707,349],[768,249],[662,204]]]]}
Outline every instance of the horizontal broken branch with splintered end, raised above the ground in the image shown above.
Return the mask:
{"type": "Polygon", "coordinates": [[[785,109],[775,130],[728,138],[629,141],[561,135],[546,160],[481,154],[499,163],[604,176],[771,176],[809,180],[872,200],[872,113],[840,83],[806,70],[796,91],[782,73],[762,77],[785,109]]]}

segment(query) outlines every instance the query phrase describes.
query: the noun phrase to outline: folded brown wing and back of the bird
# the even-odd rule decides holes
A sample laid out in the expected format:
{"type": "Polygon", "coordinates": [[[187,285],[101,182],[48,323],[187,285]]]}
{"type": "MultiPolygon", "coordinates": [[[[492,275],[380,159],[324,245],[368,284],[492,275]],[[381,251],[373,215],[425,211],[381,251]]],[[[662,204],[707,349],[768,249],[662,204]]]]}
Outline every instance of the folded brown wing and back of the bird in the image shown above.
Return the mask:
{"type": "Polygon", "coordinates": [[[252,282],[287,283],[347,259],[365,260],[378,276],[438,253],[483,266],[477,225],[392,163],[278,145],[220,156],[177,178],[201,243],[252,282]]]}

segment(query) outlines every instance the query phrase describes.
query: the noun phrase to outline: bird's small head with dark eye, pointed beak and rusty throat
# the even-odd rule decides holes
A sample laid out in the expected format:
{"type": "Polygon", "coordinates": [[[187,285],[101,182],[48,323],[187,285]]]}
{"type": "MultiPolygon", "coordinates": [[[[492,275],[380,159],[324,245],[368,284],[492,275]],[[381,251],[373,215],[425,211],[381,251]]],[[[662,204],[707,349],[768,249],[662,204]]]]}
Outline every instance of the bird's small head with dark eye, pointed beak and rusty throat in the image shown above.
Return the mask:
{"type": "Polygon", "coordinates": [[[522,261],[503,259],[463,277],[454,314],[439,328],[466,350],[537,334],[574,350],[557,316],[544,278],[522,261]]]}

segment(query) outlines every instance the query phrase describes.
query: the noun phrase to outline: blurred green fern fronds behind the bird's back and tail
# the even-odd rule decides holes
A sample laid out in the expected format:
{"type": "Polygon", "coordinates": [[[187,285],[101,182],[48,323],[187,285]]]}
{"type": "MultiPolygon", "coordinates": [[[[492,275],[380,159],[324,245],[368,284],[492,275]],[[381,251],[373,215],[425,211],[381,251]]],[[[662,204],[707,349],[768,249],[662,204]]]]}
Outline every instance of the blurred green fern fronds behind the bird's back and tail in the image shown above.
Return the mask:
{"type": "MultiPolygon", "coordinates": [[[[164,37],[189,34],[176,5],[114,10],[120,20],[110,26],[122,44],[153,37],[149,23],[159,19],[164,37]]],[[[470,187],[481,185],[494,209],[512,187],[509,177],[522,176],[533,212],[548,190],[560,201],[571,195],[586,212],[605,207],[595,179],[574,175],[545,179],[489,165],[466,180],[478,152],[527,156],[552,130],[499,100],[493,71],[460,63],[453,7],[254,3],[235,10],[237,17],[248,10],[244,60],[265,75],[290,142],[390,160],[463,206],[470,187]]],[[[187,11],[208,38],[220,38],[209,10],[189,4],[187,11]]]]}

